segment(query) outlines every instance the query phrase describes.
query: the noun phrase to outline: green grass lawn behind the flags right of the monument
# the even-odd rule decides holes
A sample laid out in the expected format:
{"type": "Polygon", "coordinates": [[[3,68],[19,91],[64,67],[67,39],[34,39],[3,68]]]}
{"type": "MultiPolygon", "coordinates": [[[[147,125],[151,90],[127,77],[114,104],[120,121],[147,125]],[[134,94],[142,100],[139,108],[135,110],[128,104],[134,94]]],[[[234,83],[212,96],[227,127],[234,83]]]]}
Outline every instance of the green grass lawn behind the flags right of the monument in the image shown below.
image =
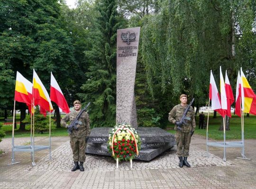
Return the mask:
{"type": "MultiPolygon", "coordinates": [[[[221,125],[222,117],[217,114],[217,118],[212,118],[213,115],[209,116],[209,127],[208,127],[208,137],[215,140],[223,140],[223,130],[219,130],[221,125]]],[[[207,121],[207,114],[205,116],[205,121],[207,121]]],[[[196,120],[195,134],[202,135],[206,137],[206,129],[198,129],[198,117],[196,120]]],[[[168,125],[168,128],[174,128],[173,125],[168,125]]],[[[241,118],[236,115],[232,115],[229,121],[230,130],[226,130],[226,139],[241,139],[241,118]]],[[[175,130],[168,130],[170,133],[175,133],[175,130]]],[[[245,139],[256,139],[256,116],[250,115],[250,117],[244,116],[244,137],[245,139]]]]}

